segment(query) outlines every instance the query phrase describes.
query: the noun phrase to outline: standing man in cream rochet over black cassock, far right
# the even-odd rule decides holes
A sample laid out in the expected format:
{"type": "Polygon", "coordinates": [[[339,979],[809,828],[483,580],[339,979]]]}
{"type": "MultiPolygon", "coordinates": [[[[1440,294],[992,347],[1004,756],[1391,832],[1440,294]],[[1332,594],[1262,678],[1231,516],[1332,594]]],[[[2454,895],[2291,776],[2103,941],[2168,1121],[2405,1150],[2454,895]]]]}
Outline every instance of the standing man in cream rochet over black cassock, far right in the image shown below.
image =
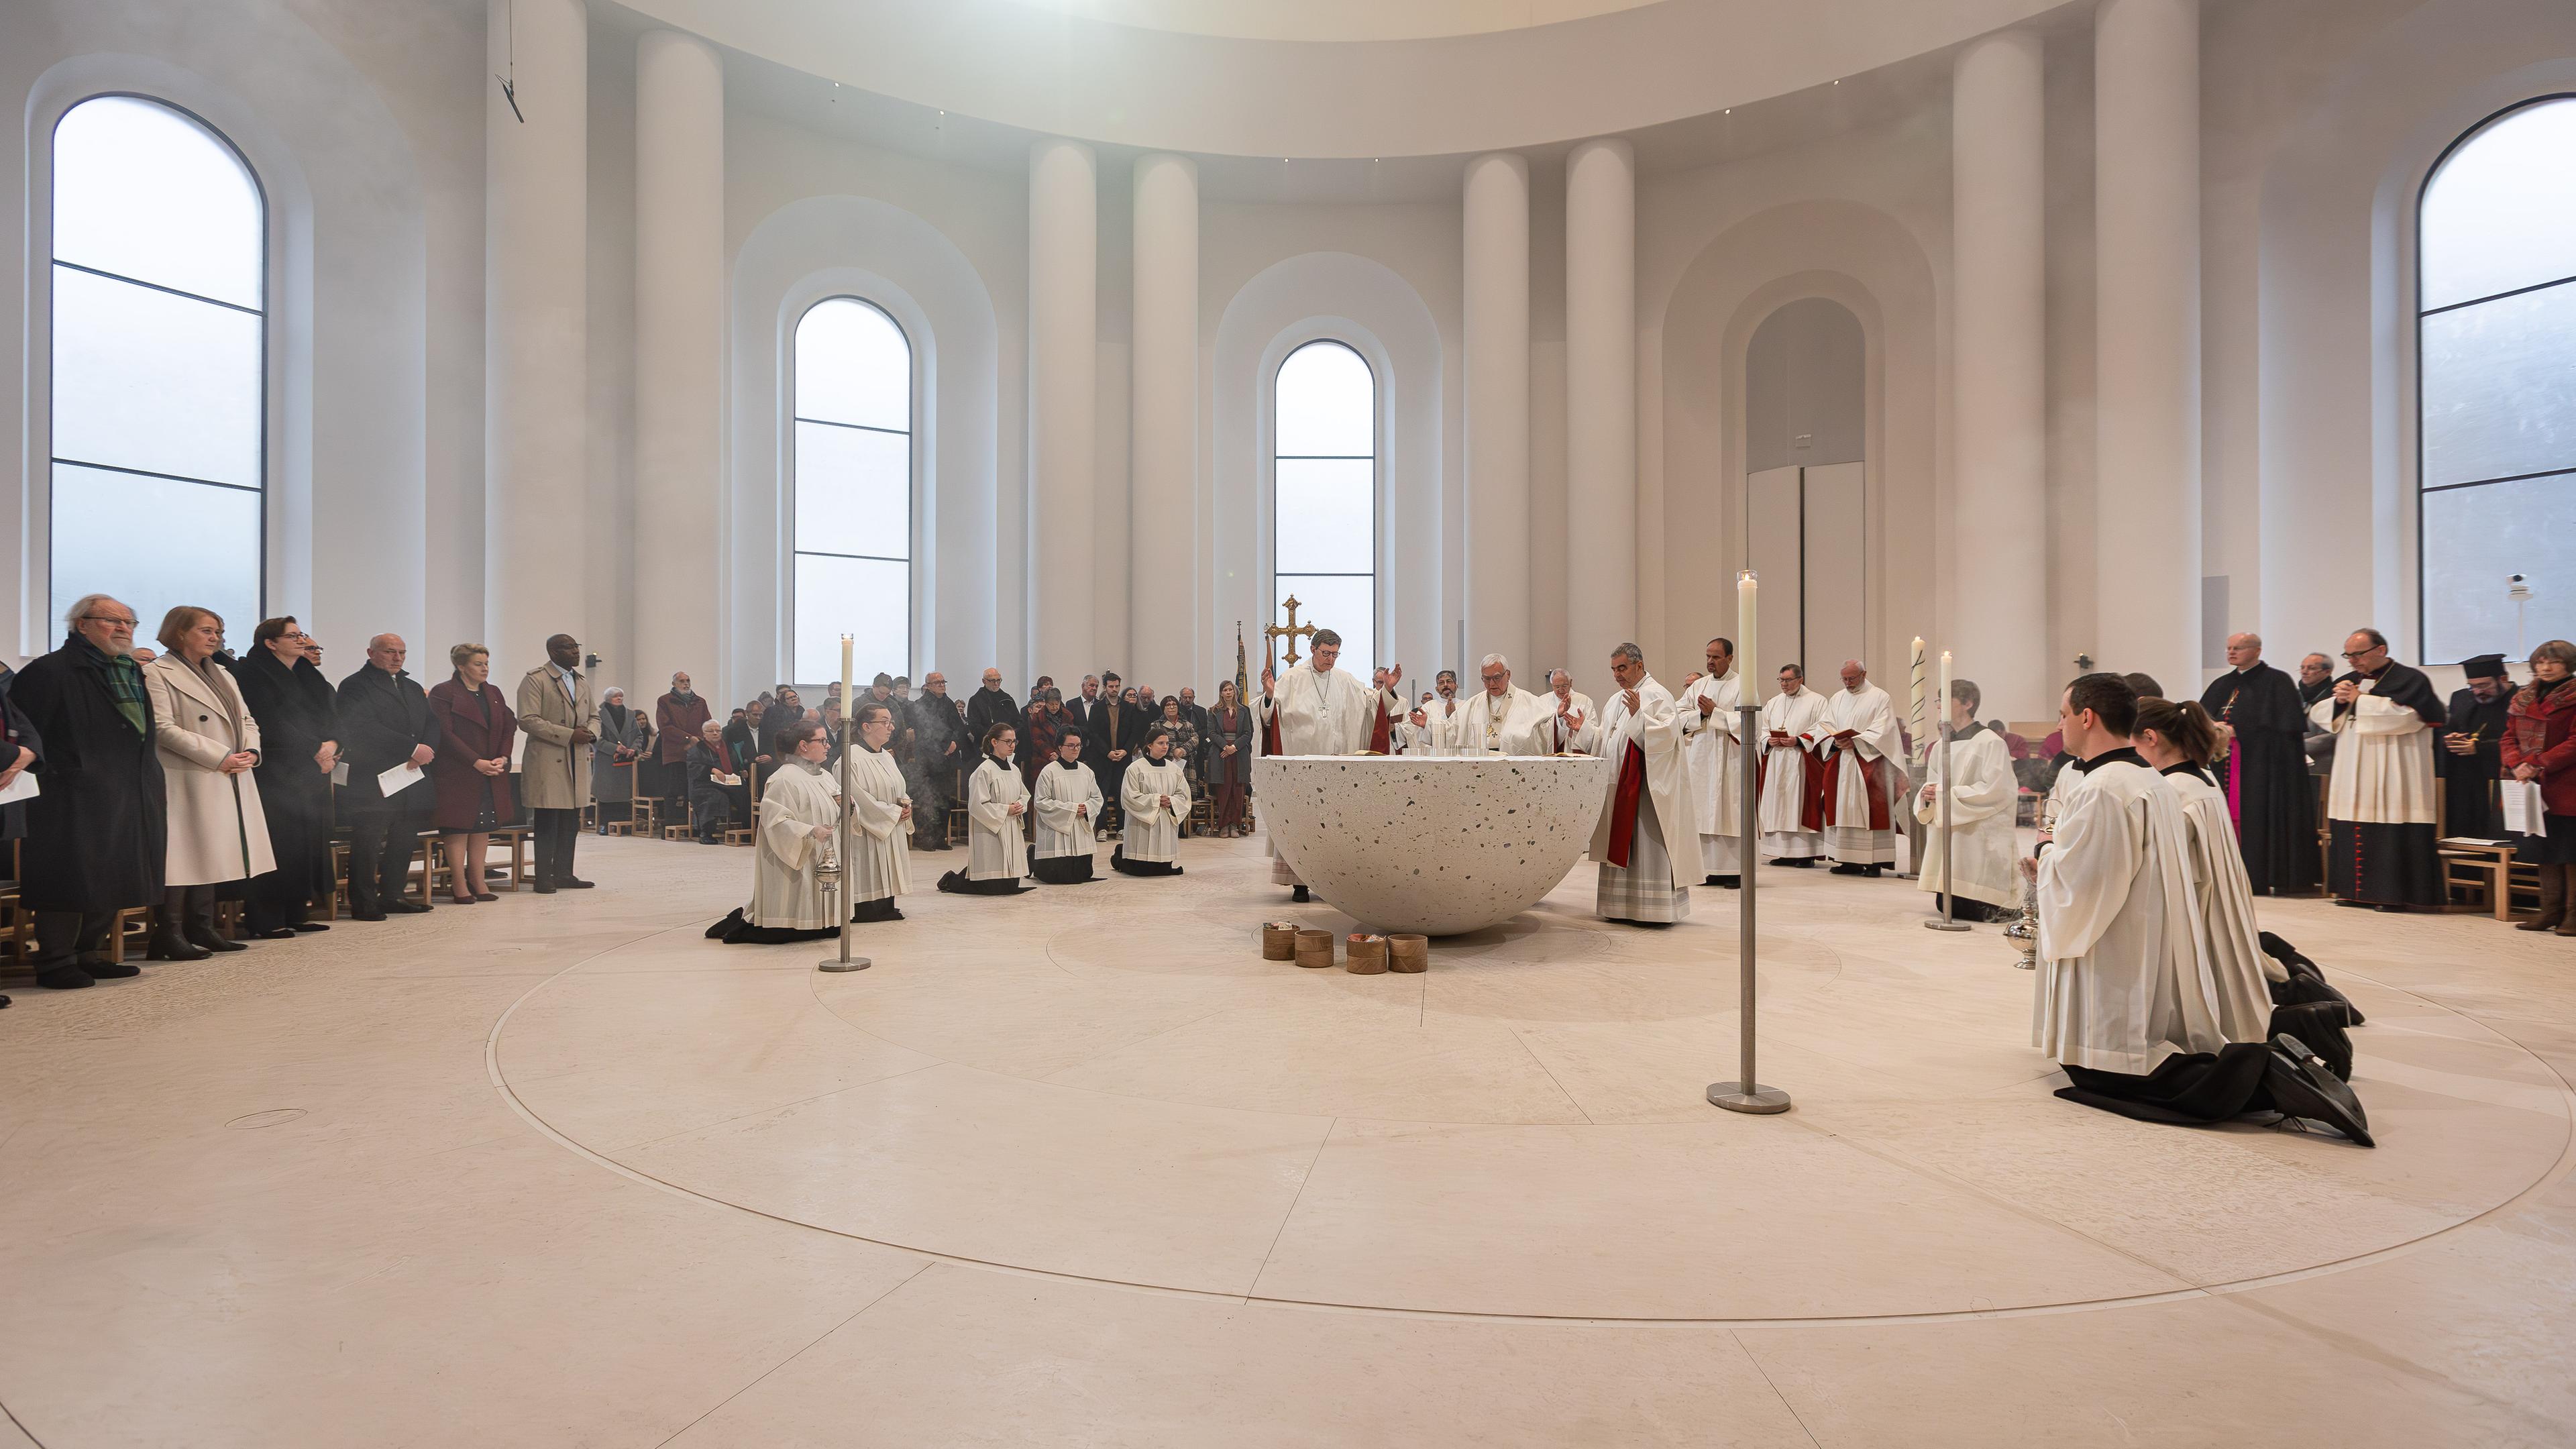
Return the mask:
{"type": "Polygon", "coordinates": [[[2437,908],[2445,900],[2434,846],[2432,732],[2442,701],[2424,670],[2388,657],[2388,637],[2344,639],[2334,694],[2311,714],[2336,735],[2326,781],[2326,890],[2336,905],[2437,908]]]}

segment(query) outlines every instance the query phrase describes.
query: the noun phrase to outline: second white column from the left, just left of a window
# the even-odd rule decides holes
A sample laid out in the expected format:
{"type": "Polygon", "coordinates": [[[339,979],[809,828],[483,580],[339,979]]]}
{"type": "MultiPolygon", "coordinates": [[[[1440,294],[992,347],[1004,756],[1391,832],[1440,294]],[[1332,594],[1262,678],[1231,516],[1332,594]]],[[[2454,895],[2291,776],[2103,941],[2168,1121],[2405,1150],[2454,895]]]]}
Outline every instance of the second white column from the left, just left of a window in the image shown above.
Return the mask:
{"type": "Polygon", "coordinates": [[[724,59],[636,39],[636,657],[629,704],[688,670],[724,681],[724,59]],[[708,567],[714,562],[714,567],[708,567]]]}

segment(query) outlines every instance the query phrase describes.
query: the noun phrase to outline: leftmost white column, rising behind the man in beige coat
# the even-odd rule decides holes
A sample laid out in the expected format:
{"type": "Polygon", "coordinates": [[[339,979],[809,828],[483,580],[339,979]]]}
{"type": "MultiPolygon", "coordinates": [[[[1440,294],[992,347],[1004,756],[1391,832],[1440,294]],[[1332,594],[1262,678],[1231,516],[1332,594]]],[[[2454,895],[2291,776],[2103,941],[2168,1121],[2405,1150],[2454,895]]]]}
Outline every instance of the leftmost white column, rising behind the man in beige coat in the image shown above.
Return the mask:
{"type": "Polygon", "coordinates": [[[546,660],[549,634],[587,642],[590,28],[582,0],[518,0],[515,34],[513,3],[489,0],[484,26],[492,72],[510,72],[515,49],[528,116],[484,88],[482,642],[510,688],[546,660]]]}

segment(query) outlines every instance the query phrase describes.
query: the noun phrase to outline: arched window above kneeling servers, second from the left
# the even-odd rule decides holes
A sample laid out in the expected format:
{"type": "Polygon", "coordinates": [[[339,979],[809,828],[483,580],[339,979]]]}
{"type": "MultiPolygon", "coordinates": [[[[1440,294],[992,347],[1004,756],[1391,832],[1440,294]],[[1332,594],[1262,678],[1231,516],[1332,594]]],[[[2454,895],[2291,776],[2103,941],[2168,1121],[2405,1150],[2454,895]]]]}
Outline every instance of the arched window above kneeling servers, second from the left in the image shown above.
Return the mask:
{"type": "Polygon", "coordinates": [[[912,673],[912,343],[829,297],[796,322],[796,678],[912,673]]]}

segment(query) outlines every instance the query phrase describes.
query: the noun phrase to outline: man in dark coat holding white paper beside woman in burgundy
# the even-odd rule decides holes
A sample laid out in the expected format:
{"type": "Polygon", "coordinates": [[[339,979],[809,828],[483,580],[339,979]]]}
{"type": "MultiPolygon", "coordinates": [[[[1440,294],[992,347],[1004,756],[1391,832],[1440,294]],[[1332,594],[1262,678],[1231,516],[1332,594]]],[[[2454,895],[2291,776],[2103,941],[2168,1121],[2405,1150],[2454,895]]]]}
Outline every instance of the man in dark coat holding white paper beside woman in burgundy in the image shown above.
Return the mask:
{"type": "Polygon", "coordinates": [[[384,920],[384,915],[417,915],[428,910],[415,900],[402,900],[412,879],[412,846],[420,843],[420,822],[428,820],[438,799],[420,776],[386,799],[376,789],[376,776],[410,761],[428,766],[438,758],[438,717],[430,714],[430,696],[420,688],[402,660],[410,645],[402,634],[376,634],[366,642],[366,668],[340,681],[340,761],[348,766],[348,784],[340,786],[340,817],[348,820],[348,905],[358,920],[384,920]]]}

